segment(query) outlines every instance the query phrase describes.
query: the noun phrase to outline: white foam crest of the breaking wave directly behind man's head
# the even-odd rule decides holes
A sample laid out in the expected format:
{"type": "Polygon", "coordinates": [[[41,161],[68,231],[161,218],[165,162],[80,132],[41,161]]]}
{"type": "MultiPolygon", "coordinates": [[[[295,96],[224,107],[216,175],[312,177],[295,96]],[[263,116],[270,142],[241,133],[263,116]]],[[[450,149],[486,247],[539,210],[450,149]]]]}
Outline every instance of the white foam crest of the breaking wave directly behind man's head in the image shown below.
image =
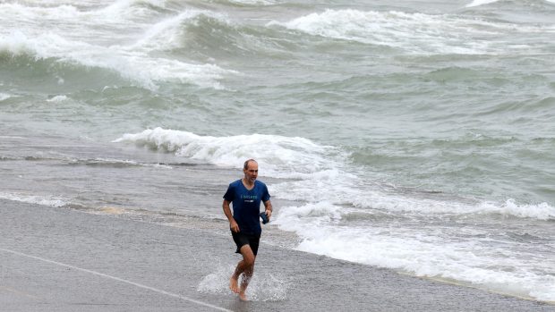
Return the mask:
{"type": "Polygon", "coordinates": [[[232,137],[199,136],[188,131],[162,128],[124,134],[114,142],[132,142],[210,164],[240,167],[244,159],[256,158],[265,176],[296,178],[321,174],[337,165],[327,156],[337,149],[309,139],[251,134],[232,137]]]}

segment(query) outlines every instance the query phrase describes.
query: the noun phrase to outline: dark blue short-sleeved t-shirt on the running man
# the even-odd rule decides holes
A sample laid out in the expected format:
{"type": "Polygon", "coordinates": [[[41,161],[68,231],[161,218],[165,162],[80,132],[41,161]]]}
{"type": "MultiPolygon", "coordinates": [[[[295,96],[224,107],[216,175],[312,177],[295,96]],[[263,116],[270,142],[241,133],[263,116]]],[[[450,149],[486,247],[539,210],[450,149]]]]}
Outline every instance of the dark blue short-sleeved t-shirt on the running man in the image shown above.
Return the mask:
{"type": "Polygon", "coordinates": [[[260,201],[269,200],[266,184],[256,180],[252,190],[247,190],[243,181],[231,182],[224,199],[233,203],[233,217],[239,224],[239,231],[260,235],[260,201]]]}

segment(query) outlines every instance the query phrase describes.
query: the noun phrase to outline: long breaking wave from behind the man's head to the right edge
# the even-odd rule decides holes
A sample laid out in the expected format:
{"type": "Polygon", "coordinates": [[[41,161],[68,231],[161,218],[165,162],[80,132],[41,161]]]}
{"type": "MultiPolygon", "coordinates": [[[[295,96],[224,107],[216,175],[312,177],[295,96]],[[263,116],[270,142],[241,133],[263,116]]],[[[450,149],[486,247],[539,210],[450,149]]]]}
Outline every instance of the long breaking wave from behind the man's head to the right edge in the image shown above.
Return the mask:
{"type": "MultiPolygon", "coordinates": [[[[276,135],[201,136],[188,131],[162,128],[127,133],[113,142],[128,142],[141,147],[174,153],[209,164],[240,168],[244,159],[255,158],[261,176],[286,179],[271,185],[278,198],[301,202],[325,202],[363,210],[412,212],[446,215],[510,215],[513,217],[554,220],[555,207],[547,203],[518,205],[474,201],[464,203],[445,198],[418,198],[415,194],[396,194],[371,187],[354,173],[339,148],[321,146],[304,138],[276,135]],[[294,190],[294,191],[292,191],[294,190]]],[[[503,141],[501,142],[503,143],[503,141]]]]}

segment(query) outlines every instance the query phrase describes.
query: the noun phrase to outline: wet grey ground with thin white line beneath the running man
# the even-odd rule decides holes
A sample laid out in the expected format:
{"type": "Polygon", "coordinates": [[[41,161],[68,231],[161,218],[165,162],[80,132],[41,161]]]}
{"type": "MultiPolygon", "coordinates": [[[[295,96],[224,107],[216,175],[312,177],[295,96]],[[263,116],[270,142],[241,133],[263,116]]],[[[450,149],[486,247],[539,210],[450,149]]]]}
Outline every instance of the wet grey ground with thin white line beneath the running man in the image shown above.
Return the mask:
{"type": "Polygon", "coordinates": [[[268,244],[242,302],[226,290],[230,237],[10,200],[0,213],[6,311],[555,311],[268,244]]]}

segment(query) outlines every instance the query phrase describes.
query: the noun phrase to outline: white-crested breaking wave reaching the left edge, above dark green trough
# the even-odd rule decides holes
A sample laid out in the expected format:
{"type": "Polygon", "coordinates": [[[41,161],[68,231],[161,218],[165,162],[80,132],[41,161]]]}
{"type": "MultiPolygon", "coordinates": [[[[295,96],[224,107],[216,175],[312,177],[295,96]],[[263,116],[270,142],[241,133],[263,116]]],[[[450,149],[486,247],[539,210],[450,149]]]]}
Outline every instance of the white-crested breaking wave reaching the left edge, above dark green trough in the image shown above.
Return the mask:
{"type": "Polygon", "coordinates": [[[213,64],[184,63],[175,59],[152,57],[140,51],[126,51],[118,46],[97,46],[73,41],[54,33],[27,36],[15,31],[0,37],[0,54],[31,55],[36,60],[118,73],[122,78],[138,82],[146,89],[157,89],[160,82],[181,82],[204,88],[222,89],[218,80],[235,74],[213,64]]]}

